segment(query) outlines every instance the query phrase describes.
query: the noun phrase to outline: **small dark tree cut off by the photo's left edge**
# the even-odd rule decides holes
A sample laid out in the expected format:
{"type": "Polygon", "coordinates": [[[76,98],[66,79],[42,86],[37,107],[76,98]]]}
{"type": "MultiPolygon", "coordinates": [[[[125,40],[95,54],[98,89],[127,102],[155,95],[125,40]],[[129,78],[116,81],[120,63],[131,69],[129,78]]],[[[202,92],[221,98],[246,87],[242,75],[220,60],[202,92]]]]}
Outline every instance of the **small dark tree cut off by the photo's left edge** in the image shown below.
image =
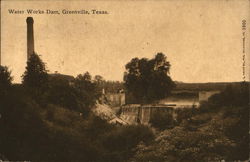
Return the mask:
{"type": "Polygon", "coordinates": [[[11,72],[6,66],[0,66],[0,92],[7,90],[11,86],[11,72]]]}

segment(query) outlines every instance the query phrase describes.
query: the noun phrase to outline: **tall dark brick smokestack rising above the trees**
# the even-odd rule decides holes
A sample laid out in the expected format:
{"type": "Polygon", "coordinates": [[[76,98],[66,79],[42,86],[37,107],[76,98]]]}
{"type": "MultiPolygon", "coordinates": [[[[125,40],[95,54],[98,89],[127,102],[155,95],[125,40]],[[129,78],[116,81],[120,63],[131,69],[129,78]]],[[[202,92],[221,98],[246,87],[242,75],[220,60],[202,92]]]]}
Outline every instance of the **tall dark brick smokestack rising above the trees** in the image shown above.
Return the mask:
{"type": "Polygon", "coordinates": [[[27,17],[27,59],[34,53],[34,33],[33,33],[33,23],[32,17],[27,17]]]}

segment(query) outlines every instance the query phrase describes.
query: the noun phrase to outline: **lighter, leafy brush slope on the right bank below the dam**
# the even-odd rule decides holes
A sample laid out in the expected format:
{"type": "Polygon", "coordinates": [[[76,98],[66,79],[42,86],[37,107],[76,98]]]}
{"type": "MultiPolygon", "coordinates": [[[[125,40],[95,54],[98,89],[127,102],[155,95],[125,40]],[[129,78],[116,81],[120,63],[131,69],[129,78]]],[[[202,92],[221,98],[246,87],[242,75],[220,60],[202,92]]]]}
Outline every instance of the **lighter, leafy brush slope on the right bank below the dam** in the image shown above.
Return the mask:
{"type": "Polygon", "coordinates": [[[153,118],[161,131],[151,145],[140,143],[130,161],[249,159],[249,83],[227,87],[199,109],[175,111],[176,120],[168,115],[153,118]]]}

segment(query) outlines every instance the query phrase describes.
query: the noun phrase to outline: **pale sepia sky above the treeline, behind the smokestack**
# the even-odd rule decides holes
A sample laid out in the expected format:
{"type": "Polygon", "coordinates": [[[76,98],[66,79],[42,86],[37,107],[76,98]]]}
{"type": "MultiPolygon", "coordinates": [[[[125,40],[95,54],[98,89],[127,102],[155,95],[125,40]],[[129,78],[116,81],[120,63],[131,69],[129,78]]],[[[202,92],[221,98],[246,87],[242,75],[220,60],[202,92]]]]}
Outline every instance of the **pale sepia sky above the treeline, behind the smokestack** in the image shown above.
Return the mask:
{"type": "Polygon", "coordinates": [[[34,19],[35,51],[50,73],[86,71],[123,80],[132,58],[162,52],[182,82],[249,81],[248,0],[1,1],[1,64],[21,82],[27,58],[26,18],[34,19]],[[22,10],[10,14],[9,9],[22,10]],[[27,9],[45,11],[28,14],[27,9]],[[60,14],[46,14],[46,10],[60,14]],[[62,10],[90,14],[62,14],[62,10]],[[108,14],[92,14],[91,10],[108,14]],[[242,20],[247,29],[242,30],[242,20]],[[245,32],[245,53],[243,53],[245,32]],[[245,57],[245,59],[243,59],[245,57]]]}

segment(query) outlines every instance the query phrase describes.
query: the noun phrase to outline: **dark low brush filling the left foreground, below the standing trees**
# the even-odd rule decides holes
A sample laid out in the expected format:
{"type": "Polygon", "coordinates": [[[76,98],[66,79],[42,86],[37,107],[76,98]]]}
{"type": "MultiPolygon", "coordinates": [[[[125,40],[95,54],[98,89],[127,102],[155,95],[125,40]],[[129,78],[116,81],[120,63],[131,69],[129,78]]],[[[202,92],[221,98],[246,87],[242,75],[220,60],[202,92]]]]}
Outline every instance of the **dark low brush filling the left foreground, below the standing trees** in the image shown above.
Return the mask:
{"type": "Polygon", "coordinates": [[[92,113],[40,105],[15,88],[0,105],[0,153],[8,160],[121,161],[140,141],[154,138],[148,127],[118,127],[92,113]]]}

